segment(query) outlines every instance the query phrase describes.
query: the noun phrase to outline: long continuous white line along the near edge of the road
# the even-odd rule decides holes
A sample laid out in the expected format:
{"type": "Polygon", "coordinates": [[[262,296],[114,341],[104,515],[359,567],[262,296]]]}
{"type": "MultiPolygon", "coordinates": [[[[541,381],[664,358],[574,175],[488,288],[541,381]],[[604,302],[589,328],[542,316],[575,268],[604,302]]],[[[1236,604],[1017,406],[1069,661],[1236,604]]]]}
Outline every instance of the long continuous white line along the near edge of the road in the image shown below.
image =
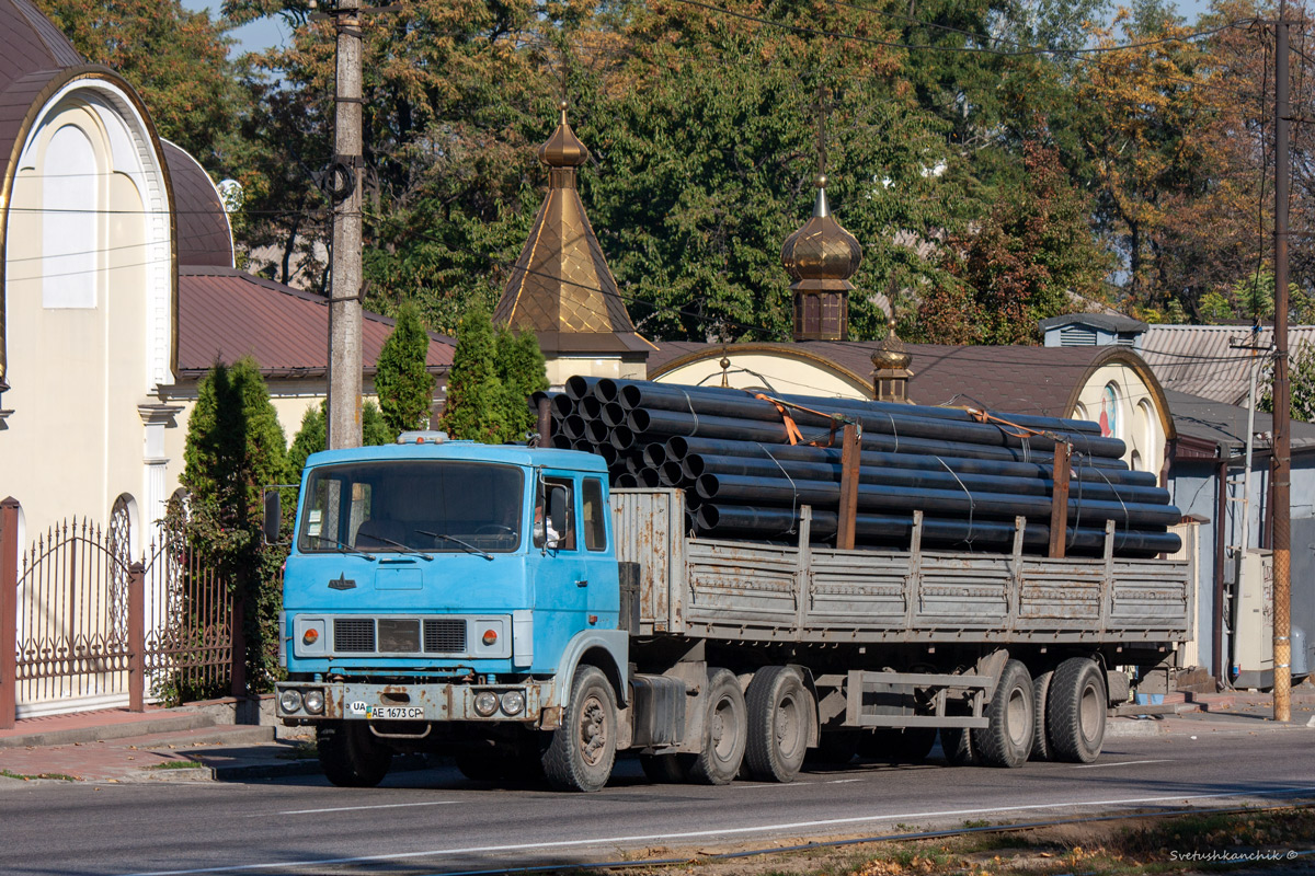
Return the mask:
{"type": "Polygon", "coordinates": [[[560,839],[556,842],[512,843],[506,846],[466,846],[464,848],[431,848],[427,851],[404,851],[387,855],[359,855],[354,858],[321,858],[310,860],[280,860],[266,864],[230,864],[226,867],[199,867],[196,869],[156,869],[126,876],[191,876],[192,873],[242,873],[262,869],[288,869],[292,867],[325,867],[329,864],[360,864],[385,860],[406,860],[414,858],[442,858],[447,855],[505,854],[514,851],[546,848],[580,848],[588,846],[617,846],[621,843],[673,842],[681,839],[704,839],[707,837],[731,837],[743,834],[764,834],[772,831],[797,831],[817,827],[842,827],[876,821],[909,822],[915,818],[961,818],[964,816],[989,816],[1035,809],[1088,808],[1088,806],[1140,806],[1155,802],[1187,802],[1191,800],[1227,800],[1231,797],[1273,797],[1277,795],[1315,793],[1315,785],[1294,785],[1291,788],[1243,789],[1227,793],[1166,795],[1160,797],[1122,797],[1114,800],[1074,800],[1060,802],[1035,802],[1023,806],[988,806],[985,809],[944,809],[942,812],[906,812],[893,816],[853,816],[851,818],[823,818],[819,821],[792,821],[778,825],[759,825],[757,827],[726,827],[722,830],[688,830],[673,834],[634,834],[629,837],[596,837],[593,839],[560,839]]]}

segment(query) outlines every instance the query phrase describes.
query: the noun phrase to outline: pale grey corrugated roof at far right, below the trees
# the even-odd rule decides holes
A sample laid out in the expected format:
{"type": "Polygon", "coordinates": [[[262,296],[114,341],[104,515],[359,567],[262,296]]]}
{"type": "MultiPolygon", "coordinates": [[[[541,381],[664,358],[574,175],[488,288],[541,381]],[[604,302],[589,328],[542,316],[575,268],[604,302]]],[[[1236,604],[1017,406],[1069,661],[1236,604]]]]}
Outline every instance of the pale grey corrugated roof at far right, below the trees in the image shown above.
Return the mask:
{"type": "MultiPolygon", "coordinates": [[[[1137,351],[1166,390],[1201,398],[1245,405],[1251,386],[1252,355],[1233,349],[1233,341],[1251,344],[1248,326],[1151,326],[1137,351]]],[[[1257,339],[1272,347],[1274,330],[1262,326],[1257,339]]],[[[1315,344],[1315,326],[1295,326],[1287,331],[1287,348],[1315,344]]]]}

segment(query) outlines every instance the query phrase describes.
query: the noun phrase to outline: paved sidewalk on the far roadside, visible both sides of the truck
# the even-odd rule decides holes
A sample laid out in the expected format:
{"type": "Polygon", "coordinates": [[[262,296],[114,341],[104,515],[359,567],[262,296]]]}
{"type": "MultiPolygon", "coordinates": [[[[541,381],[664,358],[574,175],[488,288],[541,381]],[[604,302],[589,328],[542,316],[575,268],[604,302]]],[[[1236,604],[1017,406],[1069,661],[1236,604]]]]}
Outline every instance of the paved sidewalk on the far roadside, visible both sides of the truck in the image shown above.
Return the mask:
{"type": "MultiPolygon", "coordinates": [[[[1273,720],[1268,693],[1176,693],[1168,714],[1112,717],[1107,739],[1184,734],[1256,733],[1315,728],[1315,688],[1294,690],[1291,721],[1273,720]]],[[[241,781],[316,775],[310,738],[277,738],[276,728],[220,724],[197,707],[79,712],[25,718],[0,730],[0,787],[16,781],[241,781]]],[[[394,758],[393,770],[419,770],[434,759],[394,758]]]]}

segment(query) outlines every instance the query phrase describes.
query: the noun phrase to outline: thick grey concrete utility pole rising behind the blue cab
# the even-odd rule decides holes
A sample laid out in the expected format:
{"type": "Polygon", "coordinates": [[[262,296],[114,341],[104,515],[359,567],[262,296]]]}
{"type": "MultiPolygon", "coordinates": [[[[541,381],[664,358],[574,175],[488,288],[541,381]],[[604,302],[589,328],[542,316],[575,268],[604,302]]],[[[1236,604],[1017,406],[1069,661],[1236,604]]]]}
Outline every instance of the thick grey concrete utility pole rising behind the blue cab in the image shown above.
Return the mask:
{"type": "Polygon", "coordinates": [[[329,449],[360,447],[360,0],[339,0],[334,162],[326,176],[333,208],[329,284],[329,449]]]}

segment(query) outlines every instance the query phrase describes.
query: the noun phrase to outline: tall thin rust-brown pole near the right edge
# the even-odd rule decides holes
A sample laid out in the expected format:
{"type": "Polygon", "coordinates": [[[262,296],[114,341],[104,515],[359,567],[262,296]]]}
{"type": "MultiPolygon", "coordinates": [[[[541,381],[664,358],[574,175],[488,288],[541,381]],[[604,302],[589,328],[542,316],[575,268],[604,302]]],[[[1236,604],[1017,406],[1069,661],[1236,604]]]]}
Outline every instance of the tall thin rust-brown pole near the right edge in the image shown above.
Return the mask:
{"type": "Polygon", "coordinates": [[[1287,188],[1289,155],[1287,20],[1278,12],[1274,53],[1274,720],[1291,712],[1291,387],[1287,382],[1287,188]]]}

